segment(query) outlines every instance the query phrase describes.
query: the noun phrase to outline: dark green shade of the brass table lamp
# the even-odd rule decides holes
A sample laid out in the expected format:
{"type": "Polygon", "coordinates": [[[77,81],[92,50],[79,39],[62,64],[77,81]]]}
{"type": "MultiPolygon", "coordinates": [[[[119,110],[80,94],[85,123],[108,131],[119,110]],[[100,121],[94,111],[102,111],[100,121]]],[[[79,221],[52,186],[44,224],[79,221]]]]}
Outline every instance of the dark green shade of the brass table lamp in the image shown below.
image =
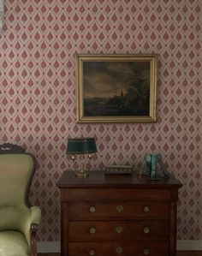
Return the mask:
{"type": "Polygon", "coordinates": [[[91,154],[97,152],[94,138],[68,139],[67,154],[91,154]]]}

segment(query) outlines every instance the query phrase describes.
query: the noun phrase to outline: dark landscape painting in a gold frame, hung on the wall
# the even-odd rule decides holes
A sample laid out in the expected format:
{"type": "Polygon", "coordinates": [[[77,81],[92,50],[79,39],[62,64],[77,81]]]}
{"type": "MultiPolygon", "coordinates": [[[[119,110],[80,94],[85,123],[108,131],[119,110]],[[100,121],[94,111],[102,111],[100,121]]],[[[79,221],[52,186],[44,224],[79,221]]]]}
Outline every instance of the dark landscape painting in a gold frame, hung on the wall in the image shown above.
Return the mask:
{"type": "Polygon", "coordinates": [[[155,122],[157,55],[78,55],[77,122],[155,122]]]}

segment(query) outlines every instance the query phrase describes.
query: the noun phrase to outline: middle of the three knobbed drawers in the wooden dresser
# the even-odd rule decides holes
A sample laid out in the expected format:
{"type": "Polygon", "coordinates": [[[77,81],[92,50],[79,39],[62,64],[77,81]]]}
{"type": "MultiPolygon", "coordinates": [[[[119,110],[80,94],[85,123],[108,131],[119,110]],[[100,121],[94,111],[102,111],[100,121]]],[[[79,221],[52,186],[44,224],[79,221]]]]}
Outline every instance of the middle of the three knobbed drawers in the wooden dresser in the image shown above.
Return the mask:
{"type": "Polygon", "coordinates": [[[94,221],[69,222],[69,241],[165,240],[169,222],[163,221],[94,221]]]}

